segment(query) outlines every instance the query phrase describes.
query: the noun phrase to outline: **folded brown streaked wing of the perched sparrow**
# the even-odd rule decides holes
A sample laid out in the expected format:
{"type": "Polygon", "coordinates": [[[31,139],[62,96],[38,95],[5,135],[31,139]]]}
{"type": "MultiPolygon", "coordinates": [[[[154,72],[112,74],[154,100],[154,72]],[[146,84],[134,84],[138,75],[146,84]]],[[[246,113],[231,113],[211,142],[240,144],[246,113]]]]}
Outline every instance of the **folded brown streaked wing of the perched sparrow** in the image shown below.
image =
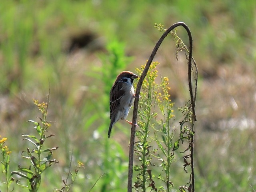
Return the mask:
{"type": "Polygon", "coordinates": [[[122,83],[116,82],[111,88],[110,91],[110,119],[114,111],[119,107],[120,100],[124,96],[125,91],[121,89],[122,83]]]}

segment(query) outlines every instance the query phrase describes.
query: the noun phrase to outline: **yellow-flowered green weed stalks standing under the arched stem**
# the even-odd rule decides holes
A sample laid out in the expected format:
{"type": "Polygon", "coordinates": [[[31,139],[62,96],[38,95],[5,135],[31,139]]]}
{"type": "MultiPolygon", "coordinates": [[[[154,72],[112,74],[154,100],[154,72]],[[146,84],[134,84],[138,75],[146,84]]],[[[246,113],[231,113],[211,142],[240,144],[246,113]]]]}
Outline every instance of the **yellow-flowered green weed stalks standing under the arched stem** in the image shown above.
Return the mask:
{"type": "MultiPolygon", "coordinates": [[[[134,188],[142,192],[146,192],[147,188],[152,191],[170,192],[173,186],[170,173],[175,157],[172,150],[173,103],[170,100],[168,78],[161,77],[160,84],[156,84],[158,64],[158,62],[151,64],[140,94],[140,110],[138,110],[140,128],[136,131],[138,141],[135,144],[135,153],[140,164],[134,166],[134,170],[138,172],[134,188]],[[150,130],[153,134],[150,134],[150,130]],[[154,162],[161,163],[154,164],[154,162]],[[152,166],[156,166],[157,169],[152,170],[152,166]],[[157,186],[155,180],[160,180],[162,184],[157,186]]],[[[142,66],[141,70],[136,69],[139,75],[142,74],[144,67],[142,66]]]]}

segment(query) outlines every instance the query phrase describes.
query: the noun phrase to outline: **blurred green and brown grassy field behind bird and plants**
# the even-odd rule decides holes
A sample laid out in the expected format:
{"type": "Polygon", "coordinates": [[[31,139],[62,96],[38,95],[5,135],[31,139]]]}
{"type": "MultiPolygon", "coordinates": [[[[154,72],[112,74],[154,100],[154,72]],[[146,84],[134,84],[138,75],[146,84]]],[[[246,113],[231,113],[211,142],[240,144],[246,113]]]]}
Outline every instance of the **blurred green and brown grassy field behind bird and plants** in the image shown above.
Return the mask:
{"type": "MultiPolygon", "coordinates": [[[[56,136],[46,145],[59,146],[60,164],[42,175],[40,191],[61,188],[72,150],[72,166],[77,160],[85,166],[72,191],[89,191],[104,172],[92,191],[126,191],[130,128],[121,121],[107,139],[108,93],[120,71],[135,72],[149,58],[161,36],[154,23],[168,28],[182,21],[199,70],[196,191],[255,191],[255,18],[255,0],[2,0],[0,135],[12,151],[10,170],[28,163],[20,154],[32,146],[21,134],[34,133],[26,123],[40,116],[32,98],[46,101],[50,82],[48,120],[56,136]]],[[[188,44],[183,28],[177,34],[188,44]]],[[[155,60],[170,79],[177,111],[189,94],[186,60],[180,53],[177,62],[174,49],[168,37],[155,60]]],[[[177,156],[174,191],[189,180],[182,164],[177,156]]]]}

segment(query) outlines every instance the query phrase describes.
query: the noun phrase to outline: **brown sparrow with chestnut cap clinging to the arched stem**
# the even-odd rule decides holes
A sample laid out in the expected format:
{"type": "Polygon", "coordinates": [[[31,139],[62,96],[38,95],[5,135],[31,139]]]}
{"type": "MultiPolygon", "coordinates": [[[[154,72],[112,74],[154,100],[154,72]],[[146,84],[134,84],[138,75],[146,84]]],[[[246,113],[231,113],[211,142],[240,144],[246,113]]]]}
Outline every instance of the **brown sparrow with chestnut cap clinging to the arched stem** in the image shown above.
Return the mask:
{"type": "MultiPolygon", "coordinates": [[[[110,94],[110,126],[108,129],[108,138],[110,137],[113,125],[120,119],[125,120],[130,125],[132,122],[126,120],[129,110],[134,102],[135,94],[132,86],[133,80],[139,76],[130,72],[123,71],[114,82],[110,94]]],[[[136,124],[136,126],[138,126],[136,124]]]]}

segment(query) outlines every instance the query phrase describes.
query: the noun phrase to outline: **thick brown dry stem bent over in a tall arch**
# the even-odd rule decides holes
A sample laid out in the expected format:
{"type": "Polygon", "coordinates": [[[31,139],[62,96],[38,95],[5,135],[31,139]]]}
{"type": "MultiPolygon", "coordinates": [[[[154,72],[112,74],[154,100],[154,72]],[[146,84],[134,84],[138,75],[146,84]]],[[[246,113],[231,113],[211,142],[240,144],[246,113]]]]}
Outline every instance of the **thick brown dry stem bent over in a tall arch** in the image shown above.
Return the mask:
{"type": "MultiPolygon", "coordinates": [[[[188,38],[189,38],[189,56],[188,56],[188,86],[189,86],[189,92],[190,92],[190,99],[191,99],[191,107],[192,107],[192,113],[193,113],[193,120],[192,120],[192,131],[194,131],[194,121],[196,121],[196,112],[195,112],[195,97],[193,95],[193,90],[192,90],[192,80],[191,80],[191,71],[192,71],[192,35],[190,32],[190,29],[184,22],[177,22],[170,26],[164,34],[160,37],[158,42],[156,43],[156,46],[154,47],[150,58],[148,59],[148,62],[146,63],[146,67],[144,68],[142,75],[140,76],[140,80],[138,81],[137,88],[136,88],[136,96],[140,95],[140,89],[142,87],[142,82],[144,78],[146,77],[146,74],[148,73],[149,67],[154,59],[154,56],[156,55],[156,52],[160,45],[162,44],[164,38],[172,31],[174,28],[178,26],[183,26],[185,30],[188,33],[188,38]]],[[[195,64],[196,67],[196,64],[195,64]]],[[[197,68],[196,68],[196,73],[197,73],[197,68]]],[[[196,77],[197,78],[197,77],[196,77]]],[[[196,80],[197,82],[197,80],[196,80]]],[[[197,83],[195,85],[195,96],[196,96],[196,88],[197,88],[197,83]]],[[[139,104],[139,97],[136,97],[134,100],[134,108],[133,108],[133,116],[132,116],[132,128],[131,128],[131,136],[130,136],[130,152],[129,152],[129,167],[128,167],[128,192],[132,192],[132,174],[133,174],[133,157],[134,157],[134,140],[135,140],[135,130],[136,130],[136,123],[137,123],[137,116],[138,116],[138,104],[139,104]]],[[[194,137],[192,136],[191,142],[194,142],[194,137]]],[[[193,145],[191,148],[191,159],[193,159],[193,145]]],[[[192,191],[194,191],[194,163],[191,161],[191,168],[192,168],[192,191]]]]}

